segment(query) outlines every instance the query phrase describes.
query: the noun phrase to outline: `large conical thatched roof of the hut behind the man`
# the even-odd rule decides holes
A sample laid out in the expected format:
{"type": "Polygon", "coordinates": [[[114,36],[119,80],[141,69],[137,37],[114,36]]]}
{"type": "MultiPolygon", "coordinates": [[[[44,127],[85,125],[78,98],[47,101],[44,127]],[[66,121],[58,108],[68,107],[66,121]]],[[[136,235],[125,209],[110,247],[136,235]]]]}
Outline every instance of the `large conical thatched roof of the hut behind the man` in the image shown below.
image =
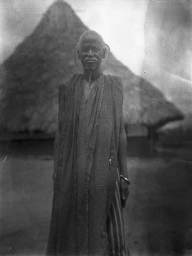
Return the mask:
{"type": "MultiPolygon", "coordinates": [[[[54,133],[58,86],[79,72],[73,50],[85,30],[65,2],[57,1],[48,9],[34,32],[0,66],[0,130],[54,133]]],[[[127,124],[159,127],[182,118],[162,93],[135,76],[113,54],[103,72],[123,79],[127,124]]]]}

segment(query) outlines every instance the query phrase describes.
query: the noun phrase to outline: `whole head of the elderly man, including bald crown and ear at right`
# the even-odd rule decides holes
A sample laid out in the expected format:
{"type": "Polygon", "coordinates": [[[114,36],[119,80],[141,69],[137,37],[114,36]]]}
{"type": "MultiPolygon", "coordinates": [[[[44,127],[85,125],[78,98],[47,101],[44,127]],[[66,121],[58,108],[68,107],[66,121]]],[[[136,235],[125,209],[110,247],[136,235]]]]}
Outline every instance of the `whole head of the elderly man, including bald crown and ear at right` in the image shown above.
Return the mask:
{"type": "Polygon", "coordinates": [[[105,58],[106,47],[101,35],[93,30],[84,32],[77,43],[77,53],[85,69],[95,70],[101,65],[102,58],[105,58]]]}

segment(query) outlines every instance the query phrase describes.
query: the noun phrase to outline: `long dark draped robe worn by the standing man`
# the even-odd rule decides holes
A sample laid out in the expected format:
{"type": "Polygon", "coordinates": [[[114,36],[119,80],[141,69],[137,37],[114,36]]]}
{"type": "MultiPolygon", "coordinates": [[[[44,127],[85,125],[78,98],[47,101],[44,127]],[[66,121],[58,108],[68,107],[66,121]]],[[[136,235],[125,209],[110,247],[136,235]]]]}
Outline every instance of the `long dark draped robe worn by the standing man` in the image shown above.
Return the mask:
{"type": "Polygon", "coordinates": [[[123,88],[101,74],[82,108],[81,74],[59,88],[48,255],[107,255],[115,194],[123,88]]]}

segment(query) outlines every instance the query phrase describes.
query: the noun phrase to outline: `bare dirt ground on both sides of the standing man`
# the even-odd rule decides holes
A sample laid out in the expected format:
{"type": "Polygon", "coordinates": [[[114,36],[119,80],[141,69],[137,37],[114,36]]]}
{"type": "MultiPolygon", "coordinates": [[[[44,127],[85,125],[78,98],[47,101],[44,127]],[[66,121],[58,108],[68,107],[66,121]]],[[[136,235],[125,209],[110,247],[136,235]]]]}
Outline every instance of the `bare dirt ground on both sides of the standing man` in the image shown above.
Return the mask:
{"type": "MultiPolygon", "coordinates": [[[[52,142],[51,142],[52,143],[52,142]]],[[[0,255],[44,255],[52,205],[50,142],[1,144],[0,255]]],[[[124,211],[131,256],[192,255],[189,150],[127,158],[124,211]]]]}

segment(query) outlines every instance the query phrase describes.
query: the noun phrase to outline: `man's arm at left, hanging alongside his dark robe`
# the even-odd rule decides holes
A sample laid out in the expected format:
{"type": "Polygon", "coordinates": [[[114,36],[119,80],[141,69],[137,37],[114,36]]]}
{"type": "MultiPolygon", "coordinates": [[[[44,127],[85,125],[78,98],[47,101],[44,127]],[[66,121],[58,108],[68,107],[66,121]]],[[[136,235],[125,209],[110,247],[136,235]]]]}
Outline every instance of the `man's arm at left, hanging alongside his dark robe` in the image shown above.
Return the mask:
{"type": "Polygon", "coordinates": [[[62,129],[62,115],[65,107],[65,94],[66,94],[67,86],[60,85],[59,86],[59,111],[57,118],[57,132],[55,134],[55,142],[54,142],[54,172],[53,172],[53,182],[55,182],[57,177],[57,162],[58,162],[58,153],[59,153],[59,144],[61,138],[61,129],[62,129]]]}

